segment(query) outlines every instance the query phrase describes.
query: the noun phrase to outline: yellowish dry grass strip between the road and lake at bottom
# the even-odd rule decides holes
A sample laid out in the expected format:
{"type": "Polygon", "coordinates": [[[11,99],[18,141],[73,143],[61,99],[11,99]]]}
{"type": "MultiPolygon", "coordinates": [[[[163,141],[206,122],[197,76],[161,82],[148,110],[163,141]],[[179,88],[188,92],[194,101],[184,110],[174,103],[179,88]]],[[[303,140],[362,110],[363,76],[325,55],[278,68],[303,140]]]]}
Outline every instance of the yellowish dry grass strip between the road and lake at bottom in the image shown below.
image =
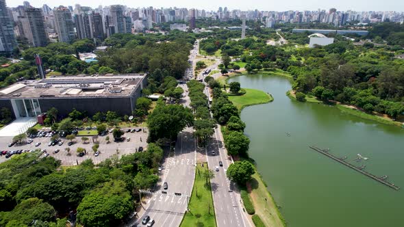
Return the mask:
{"type": "Polygon", "coordinates": [[[265,226],[286,226],[285,220],[277,208],[277,204],[266,189],[264,181],[262,181],[261,176],[257,172],[253,174],[249,184],[251,185],[249,196],[255,208],[255,215],[260,216],[265,226]]]}

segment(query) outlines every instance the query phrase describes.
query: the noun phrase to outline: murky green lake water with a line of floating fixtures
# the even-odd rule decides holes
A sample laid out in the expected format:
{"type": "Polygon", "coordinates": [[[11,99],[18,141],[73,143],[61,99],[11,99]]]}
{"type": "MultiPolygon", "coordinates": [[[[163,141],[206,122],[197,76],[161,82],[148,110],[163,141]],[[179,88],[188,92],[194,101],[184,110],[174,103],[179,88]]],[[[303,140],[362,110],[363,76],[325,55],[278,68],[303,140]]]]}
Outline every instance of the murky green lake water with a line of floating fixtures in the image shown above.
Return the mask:
{"type": "Polygon", "coordinates": [[[272,103],[242,110],[249,154],[290,227],[404,226],[404,129],[343,114],[336,107],[292,101],[283,77],[232,77],[242,88],[269,92],[272,103]],[[290,133],[290,136],[287,135],[290,133]],[[351,170],[310,149],[338,157],[402,189],[351,170]],[[367,161],[355,162],[357,154],[367,161]]]}

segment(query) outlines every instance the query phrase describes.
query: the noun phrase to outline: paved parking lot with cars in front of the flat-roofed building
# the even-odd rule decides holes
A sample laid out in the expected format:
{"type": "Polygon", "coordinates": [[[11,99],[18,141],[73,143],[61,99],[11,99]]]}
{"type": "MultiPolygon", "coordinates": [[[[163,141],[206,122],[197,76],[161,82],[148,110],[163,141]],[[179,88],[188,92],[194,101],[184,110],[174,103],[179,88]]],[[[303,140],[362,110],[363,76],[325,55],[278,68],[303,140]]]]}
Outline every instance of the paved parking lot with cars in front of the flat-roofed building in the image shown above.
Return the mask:
{"type": "MultiPolygon", "coordinates": [[[[127,129],[123,129],[123,131],[127,131],[127,129]]],[[[48,146],[51,137],[35,137],[33,138],[33,142],[31,144],[15,144],[12,147],[8,147],[8,144],[12,142],[13,137],[0,137],[0,150],[36,150],[36,149],[45,149],[47,153],[55,157],[55,159],[60,159],[62,161],[62,165],[77,165],[77,163],[81,163],[86,159],[92,159],[94,163],[100,163],[101,161],[108,159],[112,155],[126,155],[136,152],[140,146],[143,148],[147,147],[147,135],[148,130],[145,128],[144,131],[134,132],[134,133],[125,133],[123,137],[125,140],[123,142],[114,142],[114,138],[112,133],[109,133],[108,136],[110,137],[110,142],[107,143],[105,140],[105,136],[99,136],[97,142],[99,144],[99,155],[96,157],[94,156],[94,152],[92,151],[92,146],[94,143],[92,142],[92,136],[88,137],[88,141],[86,144],[81,141],[82,136],[77,136],[76,139],[73,140],[74,144],[68,146],[69,140],[66,138],[61,137],[61,141],[63,142],[62,146],[56,144],[55,146],[48,146]],[[127,138],[130,138],[130,141],[127,142],[127,138]],[[141,141],[140,141],[141,139],[141,141]],[[36,143],[40,142],[40,146],[35,146],[36,143]],[[70,154],[64,150],[65,148],[70,148],[70,154]],[[86,149],[87,155],[84,157],[77,157],[77,148],[84,148],[86,149]],[[58,153],[54,153],[53,151],[59,149],[58,153]]],[[[29,138],[27,138],[29,139],[29,138]]],[[[14,155],[13,155],[14,156],[14,155]]],[[[10,157],[11,158],[11,157],[10,157]]],[[[8,159],[5,158],[5,155],[0,157],[0,163],[3,161],[7,161],[8,159]]]]}

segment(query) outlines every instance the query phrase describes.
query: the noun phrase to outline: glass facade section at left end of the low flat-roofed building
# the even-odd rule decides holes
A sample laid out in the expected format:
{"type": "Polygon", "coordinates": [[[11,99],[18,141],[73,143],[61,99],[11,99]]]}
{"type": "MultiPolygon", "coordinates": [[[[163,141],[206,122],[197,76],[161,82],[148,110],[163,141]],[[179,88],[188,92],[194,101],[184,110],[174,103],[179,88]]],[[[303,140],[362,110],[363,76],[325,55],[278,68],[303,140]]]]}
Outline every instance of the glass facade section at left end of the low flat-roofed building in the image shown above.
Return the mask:
{"type": "Polygon", "coordinates": [[[14,99],[12,105],[16,118],[34,118],[41,114],[38,99],[14,99]]]}

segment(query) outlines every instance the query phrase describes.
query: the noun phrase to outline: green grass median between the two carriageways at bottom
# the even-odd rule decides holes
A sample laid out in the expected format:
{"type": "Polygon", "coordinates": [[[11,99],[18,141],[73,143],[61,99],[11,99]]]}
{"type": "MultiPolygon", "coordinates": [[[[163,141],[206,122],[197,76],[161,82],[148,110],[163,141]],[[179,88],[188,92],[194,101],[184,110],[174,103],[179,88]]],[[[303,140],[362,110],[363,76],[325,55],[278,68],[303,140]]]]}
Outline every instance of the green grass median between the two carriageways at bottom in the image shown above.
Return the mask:
{"type": "Polygon", "coordinates": [[[181,227],[198,226],[198,222],[202,222],[205,227],[216,226],[210,181],[208,181],[209,185],[206,185],[206,178],[203,176],[203,172],[207,171],[207,163],[203,163],[203,165],[204,167],[201,166],[201,163],[197,165],[192,196],[188,205],[190,211],[184,215],[181,227]],[[208,212],[209,206],[210,213],[208,212]],[[198,218],[197,215],[201,216],[198,218]]]}

